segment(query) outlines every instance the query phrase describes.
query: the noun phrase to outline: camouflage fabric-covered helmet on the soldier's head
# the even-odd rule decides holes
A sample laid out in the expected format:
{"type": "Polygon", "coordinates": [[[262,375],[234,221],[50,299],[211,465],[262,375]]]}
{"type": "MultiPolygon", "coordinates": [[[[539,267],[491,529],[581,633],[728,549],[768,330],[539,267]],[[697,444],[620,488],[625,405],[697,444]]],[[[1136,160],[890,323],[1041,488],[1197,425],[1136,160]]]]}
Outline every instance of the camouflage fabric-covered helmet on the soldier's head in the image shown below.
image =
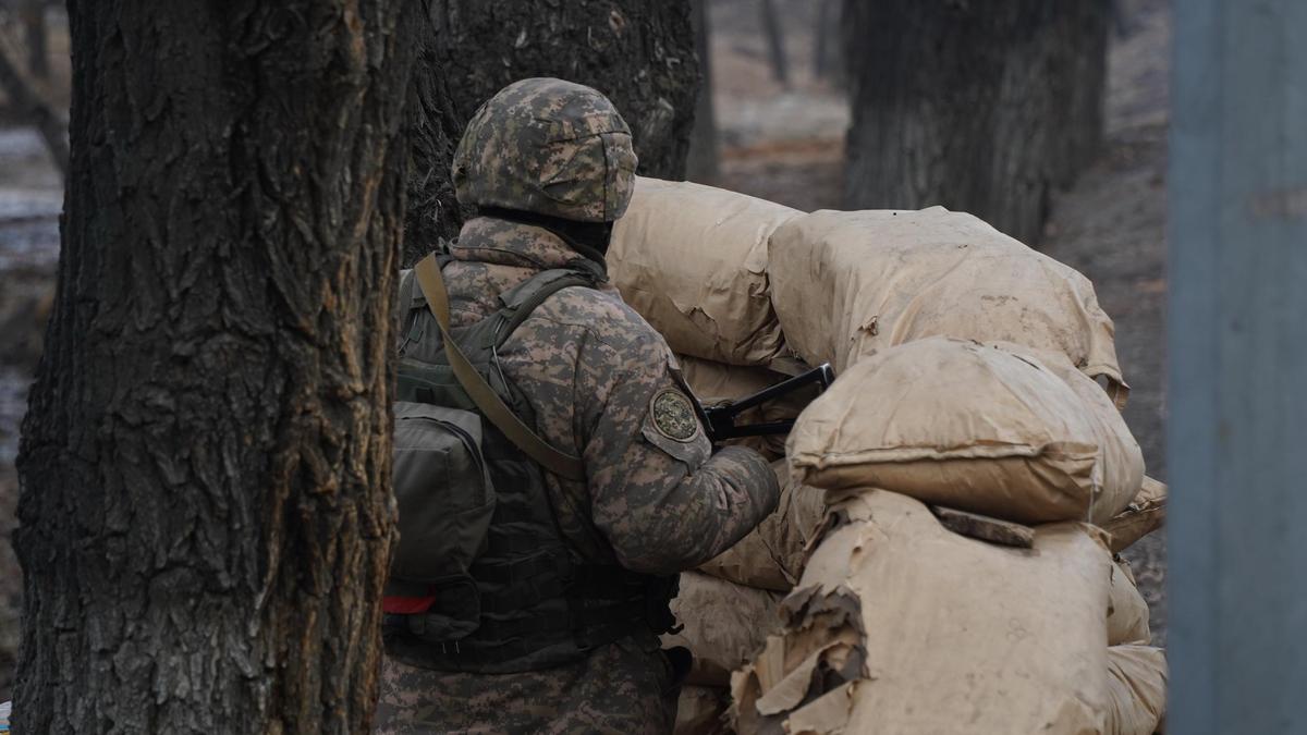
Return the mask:
{"type": "Polygon", "coordinates": [[[472,116],[454,153],[463,205],[612,222],[635,182],[631,129],[599,92],[557,78],[510,84],[472,116]]]}

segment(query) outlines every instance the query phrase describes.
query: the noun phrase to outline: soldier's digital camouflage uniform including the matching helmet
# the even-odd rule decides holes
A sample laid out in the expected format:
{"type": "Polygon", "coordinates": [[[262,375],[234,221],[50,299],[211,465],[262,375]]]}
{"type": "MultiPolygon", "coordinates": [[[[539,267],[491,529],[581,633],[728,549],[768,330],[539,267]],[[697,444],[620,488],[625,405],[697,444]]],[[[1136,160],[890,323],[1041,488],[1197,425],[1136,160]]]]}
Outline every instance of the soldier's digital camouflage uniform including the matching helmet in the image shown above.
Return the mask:
{"type": "MultiPolygon", "coordinates": [[[[625,211],[635,166],[625,131],[588,88],[511,85],[460,144],[460,200],[612,221],[625,211]],[[541,124],[514,128],[521,119],[541,124]],[[578,145],[587,137],[592,145],[578,145]],[[501,177],[510,162],[544,186],[501,177]]],[[[493,217],[468,221],[451,254],[443,275],[455,326],[491,315],[498,294],[542,269],[595,267],[548,229],[493,217]]],[[[612,286],[554,294],[505,343],[499,362],[527,395],[537,433],[584,460],[584,483],[546,477],[578,560],[672,574],[725,551],[775,506],[767,462],[742,447],[711,454],[667,343],[612,286]]],[[[654,633],[523,674],[433,671],[387,658],[378,731],[670,732],[677,679],[654,633]]]]}

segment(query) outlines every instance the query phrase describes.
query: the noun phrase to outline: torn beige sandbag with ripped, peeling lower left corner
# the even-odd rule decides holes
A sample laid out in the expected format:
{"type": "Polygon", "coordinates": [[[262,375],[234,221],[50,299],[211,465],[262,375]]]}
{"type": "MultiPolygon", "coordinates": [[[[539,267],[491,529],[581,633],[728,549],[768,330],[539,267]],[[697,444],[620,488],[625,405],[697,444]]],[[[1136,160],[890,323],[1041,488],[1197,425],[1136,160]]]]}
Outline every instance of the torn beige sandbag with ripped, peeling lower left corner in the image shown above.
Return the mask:
{"type": "Polygon", "coordinates": [[[784,629],[732,676],[741,732],[1099,732],[1111,560],[1081,523],[1034,549],[953,534],[921,502],[834,502],[784,629]]]}

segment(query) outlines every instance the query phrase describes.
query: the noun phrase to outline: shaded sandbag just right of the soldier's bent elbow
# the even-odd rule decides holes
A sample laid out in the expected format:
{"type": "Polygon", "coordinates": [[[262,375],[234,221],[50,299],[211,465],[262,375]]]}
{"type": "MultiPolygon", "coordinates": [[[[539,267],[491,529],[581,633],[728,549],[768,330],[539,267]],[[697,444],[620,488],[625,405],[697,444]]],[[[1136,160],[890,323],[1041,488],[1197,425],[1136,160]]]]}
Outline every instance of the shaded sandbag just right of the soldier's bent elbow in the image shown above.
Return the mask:
{"type": "Polygon", "coordinates": [[[822,490],[788,479],[786,460],[771,464],[780,480],[776,510],[736,545],[699,572],[737,585],[788,592],[804,572],[804,549],[817,534],[826,502],[822,490]]]}

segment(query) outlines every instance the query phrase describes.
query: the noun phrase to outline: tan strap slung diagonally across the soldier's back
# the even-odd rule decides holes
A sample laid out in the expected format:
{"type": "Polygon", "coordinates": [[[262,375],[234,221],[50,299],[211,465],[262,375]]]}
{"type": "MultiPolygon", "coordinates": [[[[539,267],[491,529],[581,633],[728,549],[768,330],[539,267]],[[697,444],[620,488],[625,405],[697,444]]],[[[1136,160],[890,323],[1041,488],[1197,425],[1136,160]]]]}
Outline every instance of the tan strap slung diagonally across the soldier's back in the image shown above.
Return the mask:
{"type": "MultiPolygon", "coordinates": [[[[481,413],[503,432],[503,436],[516,445],[518,449],[527,453],[528,456],[554,475],[575,481],[584,480],[586,466],[582,459],[549,446],[549,442],[540,438],[521,419],[518,419],[518,415],[503,403],[499,394],[494,392],[494,388],[486,383],[481,373],[477,373],[477,369],[463,354],[459,344],[454,341],[454,337],[450,335],[450,296],[444,289],[444,279],[440,276],[440,267],[437,264],[435,256],[427,255],[414,265],[413,276],[417,279],[417,284],[426,297],[427,309],[431,310],[437,326],[440,327],[440,337],[444,339],[450,368],[454,370],[454,375],[459,379],[463,390],[468,391],[468,396],[477,404],[481,413]]],[[[545,294],[540,301],[542,302],[548,296],[545,294]]]]}

